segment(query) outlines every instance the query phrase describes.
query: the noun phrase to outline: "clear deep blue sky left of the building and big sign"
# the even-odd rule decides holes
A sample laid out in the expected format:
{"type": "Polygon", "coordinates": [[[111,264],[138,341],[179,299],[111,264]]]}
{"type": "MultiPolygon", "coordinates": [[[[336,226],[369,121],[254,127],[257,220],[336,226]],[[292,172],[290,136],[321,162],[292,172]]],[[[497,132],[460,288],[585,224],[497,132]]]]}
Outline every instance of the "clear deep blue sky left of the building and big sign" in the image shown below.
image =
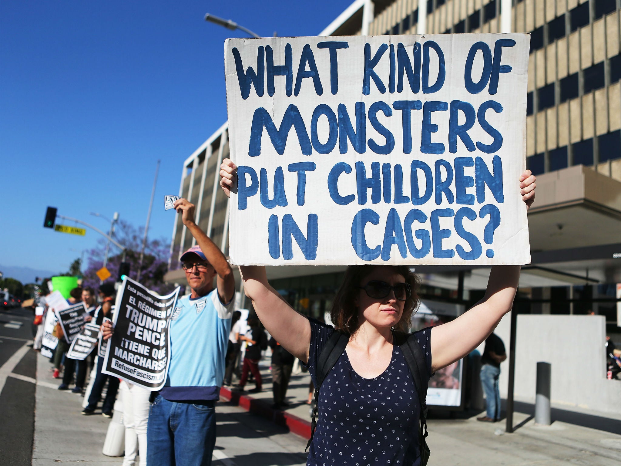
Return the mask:
{"type": "MultiPolygon", "coordinates": [[[[0,264],[65,271],[99,235],[43,228],[45,208],[99,212],[170,240],[181,165],[226,120],[224,40],[210,12],[260,35],[317,35],[351,0],[0,2],[0,264]]],[[[63,224],[72,224],[62,221],[63,224]]]]}

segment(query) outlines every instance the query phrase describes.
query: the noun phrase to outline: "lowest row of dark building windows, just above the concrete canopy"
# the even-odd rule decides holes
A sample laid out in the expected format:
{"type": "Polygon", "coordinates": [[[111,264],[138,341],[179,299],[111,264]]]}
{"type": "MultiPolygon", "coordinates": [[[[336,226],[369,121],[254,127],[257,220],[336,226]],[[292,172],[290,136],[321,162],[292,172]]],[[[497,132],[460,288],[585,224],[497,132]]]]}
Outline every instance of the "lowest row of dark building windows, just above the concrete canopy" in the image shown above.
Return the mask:
{"type": "MultiPolygon", "coordinates": [[[[593,165],[594,153],[599,154],[598,163],[621,158],[621,130],[612,131],[601,136],[597,140],[585,139],[571,145],[573,154],[572,165],[593,165]],[[595,146],[597,143],[597,151],[595,146]]],[[[540,175],[545,170],[545,153],[536,153],[527,157],[527,168],[533,175],[540,175]]],[[[548,152],[548,171],[561,170],[569,166],[568,146],[563,146],[548,152]]]]}

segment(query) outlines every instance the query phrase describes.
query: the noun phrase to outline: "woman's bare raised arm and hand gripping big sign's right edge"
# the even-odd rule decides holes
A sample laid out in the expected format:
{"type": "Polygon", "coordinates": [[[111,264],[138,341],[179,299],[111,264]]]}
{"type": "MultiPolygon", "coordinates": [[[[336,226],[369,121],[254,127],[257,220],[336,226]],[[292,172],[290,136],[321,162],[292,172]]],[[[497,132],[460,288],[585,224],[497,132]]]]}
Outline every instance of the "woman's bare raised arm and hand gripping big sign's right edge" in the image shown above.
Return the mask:
{"type": "MultiPolygon", "coordinates": [[[[520,176],[520,194],[528,209],[535,200],[535,176],[530,170],[520,176]]],[[[433,372],[468,355],[494,331],[513,306],[519,280],[519,265],[495,265],[483,299],[454,321],[433,327],[433,372]]]]}

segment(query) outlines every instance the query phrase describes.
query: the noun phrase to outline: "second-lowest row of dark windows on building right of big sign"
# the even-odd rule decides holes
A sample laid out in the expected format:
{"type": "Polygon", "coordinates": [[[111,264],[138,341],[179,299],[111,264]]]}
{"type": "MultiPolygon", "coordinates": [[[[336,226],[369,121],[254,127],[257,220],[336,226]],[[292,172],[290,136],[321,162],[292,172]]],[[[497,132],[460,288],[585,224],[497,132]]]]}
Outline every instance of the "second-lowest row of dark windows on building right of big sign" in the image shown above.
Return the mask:
{"type": "MultiPolygon", "coordinates": [[[[617,81],[621,80],[621,54],[615,55],[612,58],[609,58],[608,61],[608,72],[609,72],[609,83],[614,84],[617,81]]],[[[604,62],[596,63],[593,66],[589,66],[582,71],[578,71],[578,73],[574,73],[573,75],[569,75],[564,77],[562,80],[558,81],[559,93],[558,93],[558,103],[562,104],[563,102],[568,101],[569,99],[574,99],[580,95],[579,92],[579,78],[580,73],[582,73],[582,95],[588,94],[591,91],[595,91],[596,89],[603,88],[605,85],[605,64],[604,62]]],[[[535,92],[537,92],[537,111],[540,112],[547,108],[553,107],[556,105],[556,82],[550,83],[547,86],[543,86],[543,88],[539,88],[536,91],[530,91],[526,96],[526,114],[532,115],[535,111],[534,106],[534,96],[535,92]]]]}

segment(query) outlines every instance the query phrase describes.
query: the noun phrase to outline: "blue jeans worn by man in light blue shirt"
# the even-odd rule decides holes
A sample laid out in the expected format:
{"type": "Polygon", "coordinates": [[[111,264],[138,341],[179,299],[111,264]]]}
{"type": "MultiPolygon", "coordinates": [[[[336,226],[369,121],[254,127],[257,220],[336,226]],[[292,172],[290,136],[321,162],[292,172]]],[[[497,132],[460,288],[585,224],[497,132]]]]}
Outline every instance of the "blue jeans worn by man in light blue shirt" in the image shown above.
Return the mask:
{"type": "Polygon", "coordinates": [[[149,466],[210,466],[215,446],[215,401],[168,401],[158,395],[149,410],[149,466]]]}

